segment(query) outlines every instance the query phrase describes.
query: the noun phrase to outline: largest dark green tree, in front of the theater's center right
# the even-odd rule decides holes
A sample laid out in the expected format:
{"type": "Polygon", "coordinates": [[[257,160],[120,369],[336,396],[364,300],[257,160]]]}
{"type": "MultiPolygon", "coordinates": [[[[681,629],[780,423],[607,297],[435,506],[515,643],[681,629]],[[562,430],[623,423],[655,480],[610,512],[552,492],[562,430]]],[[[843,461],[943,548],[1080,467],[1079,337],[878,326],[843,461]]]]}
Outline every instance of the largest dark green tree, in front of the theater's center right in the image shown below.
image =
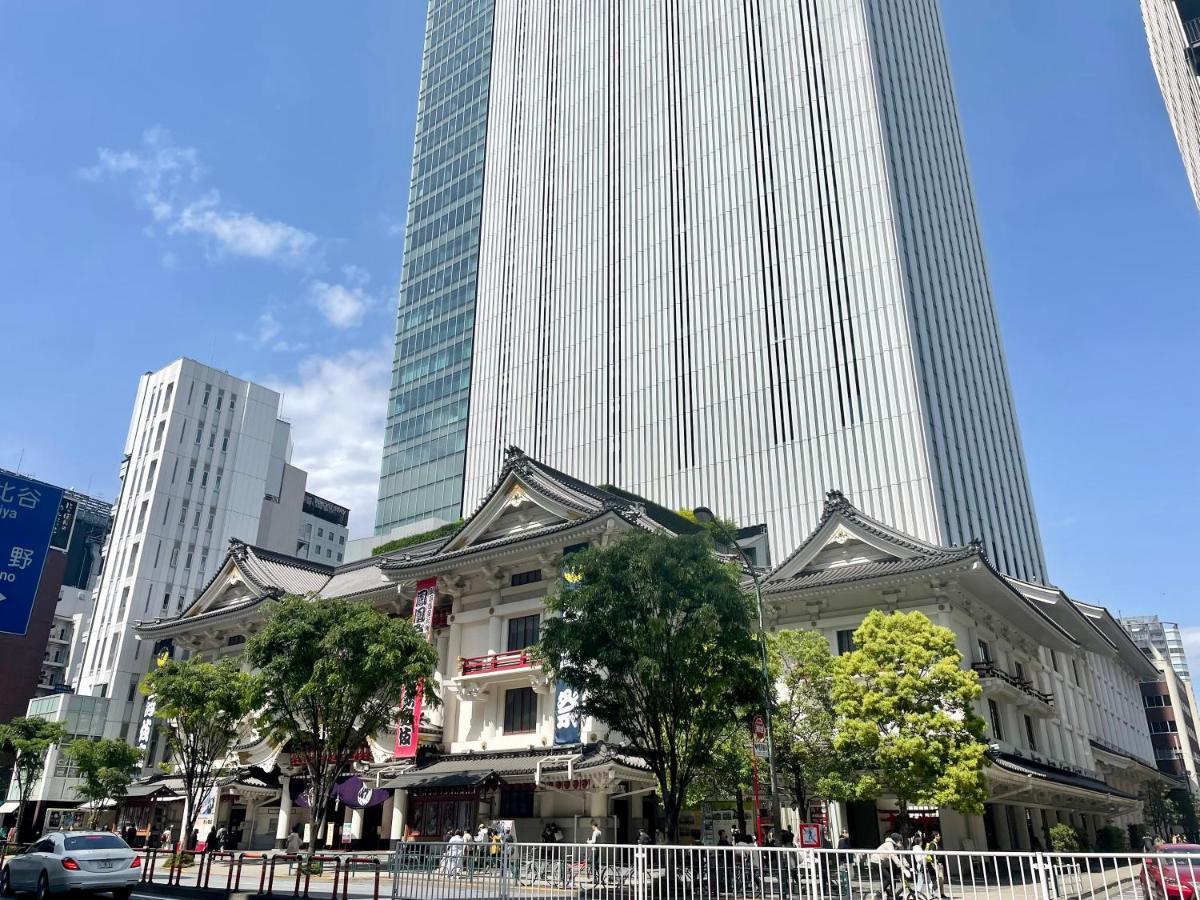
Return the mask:
{"type": "Polygon", "coordinates": [[[760,697],[751,604],[702,535],[630,532],[571,569],[572,589],[547,601],[540,653],[581,712],[654,772],[677,840],[688,787],[760,697]]]}

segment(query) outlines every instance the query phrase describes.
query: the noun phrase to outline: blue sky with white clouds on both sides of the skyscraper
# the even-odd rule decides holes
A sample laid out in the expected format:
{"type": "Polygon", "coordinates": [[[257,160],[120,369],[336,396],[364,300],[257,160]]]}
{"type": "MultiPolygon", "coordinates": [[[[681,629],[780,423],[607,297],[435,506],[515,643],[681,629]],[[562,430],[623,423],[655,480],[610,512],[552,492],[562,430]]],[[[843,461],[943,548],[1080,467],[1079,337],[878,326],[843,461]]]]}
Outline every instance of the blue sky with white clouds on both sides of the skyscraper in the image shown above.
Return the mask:
{"type": "MultiPolygon", "coordinates": [[[[1200,638],[1200,214],[1136,4],[943,7],[1051,576],[1200,638]]],[[[0,466],[114,496],[137,376],[190,355],[281,388],[370,529],[422,18],[0,4],[0,466]]]]}

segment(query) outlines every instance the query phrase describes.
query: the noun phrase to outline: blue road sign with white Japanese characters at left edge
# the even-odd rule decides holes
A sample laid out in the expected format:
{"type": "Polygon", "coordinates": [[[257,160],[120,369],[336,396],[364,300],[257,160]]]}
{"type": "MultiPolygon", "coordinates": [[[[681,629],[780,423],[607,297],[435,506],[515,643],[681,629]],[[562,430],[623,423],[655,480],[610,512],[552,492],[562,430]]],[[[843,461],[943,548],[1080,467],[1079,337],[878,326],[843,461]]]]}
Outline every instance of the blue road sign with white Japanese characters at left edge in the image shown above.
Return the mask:
{"type": "Polygon", "coordinates": [[[24,635],[59,516],[62,488],[0,475],[0,632],[24,635]]]}

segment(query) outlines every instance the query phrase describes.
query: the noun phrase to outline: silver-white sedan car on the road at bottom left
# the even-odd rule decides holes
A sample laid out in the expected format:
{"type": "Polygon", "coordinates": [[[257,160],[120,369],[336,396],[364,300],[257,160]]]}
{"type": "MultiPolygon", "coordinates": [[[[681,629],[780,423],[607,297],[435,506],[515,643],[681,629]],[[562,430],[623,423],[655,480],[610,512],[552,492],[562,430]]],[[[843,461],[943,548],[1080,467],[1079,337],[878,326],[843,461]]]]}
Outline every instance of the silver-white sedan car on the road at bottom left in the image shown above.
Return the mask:
{"type": "Polygon", "coordinates": [[[142,860],[109,832],[50,832],[5,862],[0,894],[37,892],[37,900],[68,890],[110,890],[128,900],[142,880],[142,860]]]}

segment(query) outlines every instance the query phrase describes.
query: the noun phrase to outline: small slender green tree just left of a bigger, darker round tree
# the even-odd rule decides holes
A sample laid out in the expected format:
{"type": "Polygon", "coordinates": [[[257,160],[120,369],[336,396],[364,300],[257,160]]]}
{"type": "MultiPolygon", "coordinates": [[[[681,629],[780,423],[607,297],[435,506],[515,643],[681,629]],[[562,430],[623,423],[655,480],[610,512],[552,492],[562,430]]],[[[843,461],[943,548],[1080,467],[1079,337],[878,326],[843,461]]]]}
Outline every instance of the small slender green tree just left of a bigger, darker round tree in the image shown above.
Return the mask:
{"type": "Polygon", "coordinates": [[[256,679],[234,660],[214,664],[198,656],[163,662],[142,683],[142,692],[155,704],[155,718],[163,724],[174,772],[184,782],[185,847],[239,726],[252,724],[256,690],[256,679]]]}

